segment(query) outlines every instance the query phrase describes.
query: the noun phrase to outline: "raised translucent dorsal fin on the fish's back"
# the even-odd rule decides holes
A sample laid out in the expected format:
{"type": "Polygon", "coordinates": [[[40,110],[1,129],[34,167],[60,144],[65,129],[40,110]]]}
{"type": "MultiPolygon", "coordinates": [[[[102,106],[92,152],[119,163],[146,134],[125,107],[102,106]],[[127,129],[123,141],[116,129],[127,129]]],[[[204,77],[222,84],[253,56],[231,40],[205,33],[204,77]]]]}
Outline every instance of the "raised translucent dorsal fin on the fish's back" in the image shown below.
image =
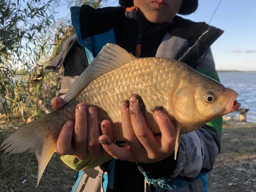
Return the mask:
{"type": "Polygon", "coordinates": [[[106,44],[84,72],[73,82],[64,97],[64,101],[69,102],[84,90],[90,82],[135,58],[134,55],[117,44],[106,44]]]}

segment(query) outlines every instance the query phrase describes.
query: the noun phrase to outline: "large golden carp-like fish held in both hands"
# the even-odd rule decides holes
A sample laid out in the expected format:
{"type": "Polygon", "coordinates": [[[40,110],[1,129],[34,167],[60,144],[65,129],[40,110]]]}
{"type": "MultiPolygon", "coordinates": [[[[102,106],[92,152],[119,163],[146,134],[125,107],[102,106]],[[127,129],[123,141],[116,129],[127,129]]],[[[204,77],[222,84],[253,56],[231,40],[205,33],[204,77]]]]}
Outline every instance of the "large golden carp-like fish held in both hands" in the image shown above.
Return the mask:
{"type": "Polygon", "coordinates": [[[123,101],[135,94],[153,134],[161,134],[152,113],[157,108],[175,120],[175,159],[181,134],[196,131],[205,123],[236,111],[239,94],[171,58],[137,58],[117,44],[105,44],[90,65],[67,91],[65,105],[18,128],[1,145],[5,152],[35,153],[38,160],[37,185],[56,151],[64,123],[75,120],[81,102],[98,111],[99,123],[111,122],[113,141],[125,141],[121,126],[123,101]]]}

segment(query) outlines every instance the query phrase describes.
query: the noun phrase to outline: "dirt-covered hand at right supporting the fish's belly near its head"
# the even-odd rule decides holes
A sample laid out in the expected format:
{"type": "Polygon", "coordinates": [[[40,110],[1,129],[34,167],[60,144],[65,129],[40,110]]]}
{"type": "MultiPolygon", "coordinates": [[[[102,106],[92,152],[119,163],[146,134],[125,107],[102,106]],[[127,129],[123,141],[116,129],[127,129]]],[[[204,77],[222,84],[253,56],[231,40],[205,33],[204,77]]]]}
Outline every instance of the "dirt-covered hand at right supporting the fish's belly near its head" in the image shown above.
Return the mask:
{"type": "Polygon", "coordinates": [[[130,109],[123,102],[122,131],[126,147],[118,147],[111,142],[107,135],[99,137],[102,147],[115,159],[129,160],[142,163],[154,163],[169,157],[174,151],[176,130],[175,126],[163,111],[153,113],[162,135],[155,136],[148,128],[139,102],[135,97],[130,98],[130,109]],[[130,113],[132,111],[132,113],[130,113]]]}

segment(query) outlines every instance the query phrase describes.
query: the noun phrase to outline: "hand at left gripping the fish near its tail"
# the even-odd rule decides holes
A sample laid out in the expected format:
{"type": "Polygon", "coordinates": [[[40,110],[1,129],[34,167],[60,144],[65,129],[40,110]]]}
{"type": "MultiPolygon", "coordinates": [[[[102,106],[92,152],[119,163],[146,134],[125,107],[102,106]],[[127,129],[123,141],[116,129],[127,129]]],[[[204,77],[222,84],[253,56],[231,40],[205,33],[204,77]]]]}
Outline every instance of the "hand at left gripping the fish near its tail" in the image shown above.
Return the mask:
{"type": "MultiPolygon", "coordinates": [[[[62,108],[64,100],[55,97],[51,101],[56,111],[62,108]]],[[[112,139],[111,125],[108,120],[101,123],[102,134],[112,139]]],[[[72,120],[65,122],[57,140],[56,151],[60,155],[75,155],[80,160],[109,157],[98,141],[100,136],[98,114],[96,108],[79,103],[76,108],[75,123],[72,120]]]]}

